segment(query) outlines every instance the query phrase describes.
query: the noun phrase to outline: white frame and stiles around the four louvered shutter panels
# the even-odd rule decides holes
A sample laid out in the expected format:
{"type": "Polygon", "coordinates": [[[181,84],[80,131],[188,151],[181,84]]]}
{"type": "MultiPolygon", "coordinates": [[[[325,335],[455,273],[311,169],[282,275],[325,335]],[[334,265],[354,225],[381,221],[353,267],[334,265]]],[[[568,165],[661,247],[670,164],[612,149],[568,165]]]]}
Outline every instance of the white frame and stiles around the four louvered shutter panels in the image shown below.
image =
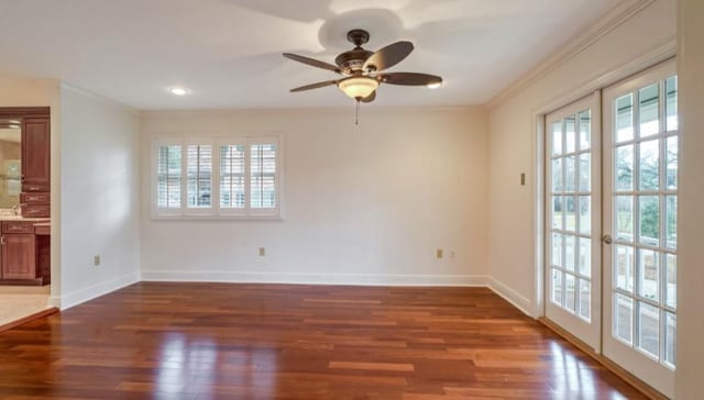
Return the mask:
{"type": "Polygon", "coordinates": [[[233,136],[156,136],[152,140],[151,148],[151,218],[152,220],[283,220],[283,188],[284,188],[284,140],[280,134],[266,135],[233,135],[233,136]],[[274,144],[276,146],[276,164],[274,187],[276,193],[276,207],[266,209],[253,209],[251,207],[251,147],[255,144],[274,144]],[[182,147],[180,167],[180,208],[158,207],[158,148],[161,146],[182,147]],[[188,174],[187,174],[187,146],[210,145],[211,157],[211,205],[209,208],[189,208],[188,203],[188,174]],[[244,208],[220,207],[220,146],[244,145],[244,208]]]}

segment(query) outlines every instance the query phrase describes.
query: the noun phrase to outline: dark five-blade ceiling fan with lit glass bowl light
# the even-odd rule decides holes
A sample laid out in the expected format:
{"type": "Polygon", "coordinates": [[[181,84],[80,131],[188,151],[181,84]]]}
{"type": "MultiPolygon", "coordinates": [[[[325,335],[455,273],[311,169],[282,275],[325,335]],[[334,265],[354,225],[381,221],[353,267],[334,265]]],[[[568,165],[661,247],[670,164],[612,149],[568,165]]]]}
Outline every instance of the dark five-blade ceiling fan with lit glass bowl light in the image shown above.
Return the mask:
{"type": "Polygon", "coordinates": [[[370,52],[362,47],[370,40],[369,32],[352,30],[348,32],[348,41],[354,44],[354,48],[341,53],[334,59],[337,65],[320,62],[297,54],[284,53],[284,57],[304,63],[314,67],[328,69],[342,75],[336,80],[326,80],[290,89],[292,92],[322,88],[336,85],[346,96],[355,99],[358,103],[372,102],[376,98],[376,89],[381,84],[404,86],[427,86],[430,88],[442,85],[442,78],[435,75],[417,73],[386,73],[406,58],[414,49],[410,42],[396,42],[377,52],[370,52]]]}

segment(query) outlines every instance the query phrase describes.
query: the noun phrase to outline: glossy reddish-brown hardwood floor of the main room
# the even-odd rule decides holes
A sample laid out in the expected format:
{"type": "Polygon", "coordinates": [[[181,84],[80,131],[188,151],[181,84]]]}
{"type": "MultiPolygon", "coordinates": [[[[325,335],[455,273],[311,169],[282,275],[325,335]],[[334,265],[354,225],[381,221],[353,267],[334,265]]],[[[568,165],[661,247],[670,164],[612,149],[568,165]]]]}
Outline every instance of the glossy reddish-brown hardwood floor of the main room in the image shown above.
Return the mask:
{"type": "Polygon", "coordinates": [[[484,288],[142,282],[0,333],[1,399],[640,399],[484,288]]]}

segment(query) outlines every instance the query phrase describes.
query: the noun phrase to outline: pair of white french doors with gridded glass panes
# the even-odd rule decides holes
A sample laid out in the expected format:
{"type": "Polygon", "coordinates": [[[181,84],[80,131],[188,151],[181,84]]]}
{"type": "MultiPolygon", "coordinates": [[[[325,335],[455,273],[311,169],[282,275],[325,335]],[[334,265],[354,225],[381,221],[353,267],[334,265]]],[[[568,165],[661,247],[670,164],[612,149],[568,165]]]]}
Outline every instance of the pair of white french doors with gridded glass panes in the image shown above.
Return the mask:
{"type": "Polygon", "coordinates": [[[546,115],[546,316],[669,397],[676,107],[668,62],[546,115]]]}

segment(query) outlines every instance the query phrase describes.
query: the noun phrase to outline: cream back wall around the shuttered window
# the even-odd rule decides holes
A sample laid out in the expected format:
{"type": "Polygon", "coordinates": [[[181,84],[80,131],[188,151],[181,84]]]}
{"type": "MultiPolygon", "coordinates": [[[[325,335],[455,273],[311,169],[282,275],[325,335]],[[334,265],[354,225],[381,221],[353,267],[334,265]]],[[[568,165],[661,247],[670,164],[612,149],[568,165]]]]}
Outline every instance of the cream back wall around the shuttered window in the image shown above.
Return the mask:
{"type": "Polygon", "coordinates": [[[352,102],[343,110],[146,112],[142,149],[144,279],[485,282],[484,109],[362,105],[359,126],[352,102]],[[153,137],[272,132],[285,142],[284,221],[150,218],[153,137]],[[436,248],[446,258],[436,259],[436,248]]]}

